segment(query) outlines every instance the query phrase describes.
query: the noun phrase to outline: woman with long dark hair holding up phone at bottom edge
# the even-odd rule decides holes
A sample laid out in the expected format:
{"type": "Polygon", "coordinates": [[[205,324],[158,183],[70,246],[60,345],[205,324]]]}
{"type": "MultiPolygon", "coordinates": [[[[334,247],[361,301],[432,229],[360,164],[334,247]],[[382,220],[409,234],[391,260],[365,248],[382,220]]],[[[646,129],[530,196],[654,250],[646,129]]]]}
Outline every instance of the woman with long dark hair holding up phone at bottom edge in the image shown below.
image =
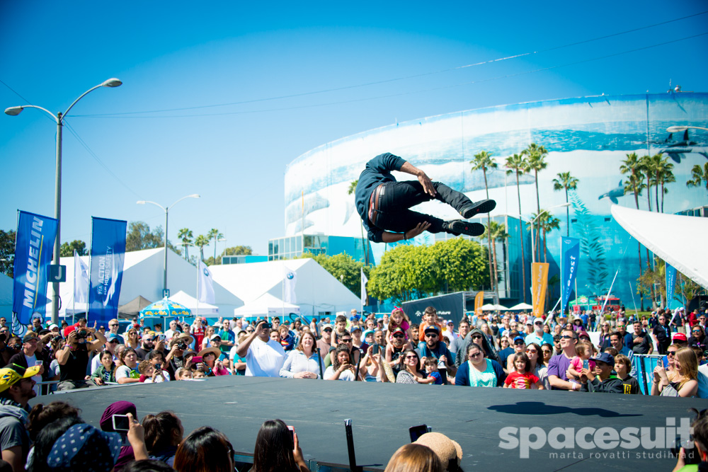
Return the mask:
{"type": "Polygon", "coordinates": [[[251,472],[309,472],[295,430],[282,420],[263,422],[256,437],[251,472]]]}

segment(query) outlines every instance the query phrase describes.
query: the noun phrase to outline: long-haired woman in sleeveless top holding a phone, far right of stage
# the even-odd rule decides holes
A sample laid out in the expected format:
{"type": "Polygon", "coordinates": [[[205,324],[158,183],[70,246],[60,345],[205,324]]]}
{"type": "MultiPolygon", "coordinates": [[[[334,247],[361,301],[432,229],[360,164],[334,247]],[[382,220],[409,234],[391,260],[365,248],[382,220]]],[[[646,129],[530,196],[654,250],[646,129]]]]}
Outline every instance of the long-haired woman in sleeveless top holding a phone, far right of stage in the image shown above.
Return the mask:
{"type": "Polygon", "coordinates": [[[666,372],[661,363],[654,369],[651,394],[660,396],[696,396],[698,392],[698,357],[690,347],[676,351],[673,372],[666,372]]]}

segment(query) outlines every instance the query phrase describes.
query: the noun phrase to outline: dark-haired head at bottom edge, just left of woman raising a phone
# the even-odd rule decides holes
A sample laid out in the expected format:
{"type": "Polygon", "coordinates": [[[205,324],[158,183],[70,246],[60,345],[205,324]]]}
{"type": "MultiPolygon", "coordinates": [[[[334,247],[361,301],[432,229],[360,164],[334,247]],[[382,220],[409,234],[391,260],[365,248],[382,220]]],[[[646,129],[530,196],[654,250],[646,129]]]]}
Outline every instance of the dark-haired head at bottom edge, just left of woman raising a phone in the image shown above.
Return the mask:
{"type": "Polygon", "coordinates": [[[234,447],[224,433],[198,427],[180,443],[173,467],[177,472],[234,472],[234,447]]]}

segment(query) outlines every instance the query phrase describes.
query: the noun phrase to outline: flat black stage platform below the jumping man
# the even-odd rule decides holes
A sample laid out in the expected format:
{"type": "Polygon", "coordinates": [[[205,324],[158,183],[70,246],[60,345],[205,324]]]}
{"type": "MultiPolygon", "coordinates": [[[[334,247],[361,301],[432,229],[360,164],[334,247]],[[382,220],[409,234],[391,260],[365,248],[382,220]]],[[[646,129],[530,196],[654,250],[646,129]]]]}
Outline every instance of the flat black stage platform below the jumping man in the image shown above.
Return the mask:
{"type": "Polygon", "coordinates": [[[540,427],[546,434],[554,427],[651,427],[653,438],[654,428],[666,427],[666,418],[677,418],[678,425],[678,418],[688,417],[687,408],[708,408],[708,401],[700,398],[244,376],[93,388],[30,403],[53,400],[78,406],[84,420],[96,426],[113,401],[134,402],[139,418],[173,410],[185,434],[210,425],[227,434],[242,456],[253,454],[263,421],[280,418],[295,427],[314,471],[316,463],[321,470],[334,464],[340,464],[335,467],[339,470],[348,468],[346,418],[353,420],[357,464],[365,470],[383,470],[394,451],[410,441],[408,428],[425,423],[461,444],[465,471],[670,471],[675,459],[668,457],[668,449],[557,450],[546,443],[522,459],[519,448],[501,449],[499,432],[503,427],[540,427]]]}

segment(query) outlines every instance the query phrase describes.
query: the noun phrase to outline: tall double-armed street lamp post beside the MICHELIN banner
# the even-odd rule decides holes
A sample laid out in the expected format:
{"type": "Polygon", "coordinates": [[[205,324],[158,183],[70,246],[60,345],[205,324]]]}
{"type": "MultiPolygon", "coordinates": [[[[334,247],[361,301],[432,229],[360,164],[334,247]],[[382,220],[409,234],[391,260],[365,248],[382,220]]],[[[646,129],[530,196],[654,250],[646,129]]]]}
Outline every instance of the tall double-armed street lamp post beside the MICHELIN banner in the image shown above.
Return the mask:
{"type": "MultiPolygon", "coordinates": [[[[24,110],[25,108],[37,108],[38,110],[42,110],[43,112],[50,115],[52,118],[54,118],[55,122],[57,122],[57,171],[55,174],[54,195],[54,217],[57,219],[57,238],[54,242],[54,254],[52,255],[52,260],[55,264],[59,264],[59,248],[61,241],[60,233],[62,228],[62,127],[64,126],[64,118],[67,116],[67,113],[69,113],[69,110],[71,110],[74,105],[76,105],[76,102],[96,90],[96,88],[114,88],[120,87],[121,85],[122,82],[118,79],[108,79],[107,81],[104,81],[95,87],[89,88],[89,90],[85,91],[84,93],[81,93],[81,96],[79,96],[79,98],[76,98],[76,100],[74,100],[74,103],[69,105],[69,108],[67,108],[64,113],[59,112],[57,113],[57,115],[50,112],[50,110],[47,110],[46,108],[42,108],[37,105],[20,105],[16,107],[8,107],[5,109],[6,115],[17,116],[22,113],[22,110],[24,110]]],[[[59,282],[52,282],[52,292],[54,292],[52,296],[52,323],[57,324],[59,323],[59,282]]]]}

